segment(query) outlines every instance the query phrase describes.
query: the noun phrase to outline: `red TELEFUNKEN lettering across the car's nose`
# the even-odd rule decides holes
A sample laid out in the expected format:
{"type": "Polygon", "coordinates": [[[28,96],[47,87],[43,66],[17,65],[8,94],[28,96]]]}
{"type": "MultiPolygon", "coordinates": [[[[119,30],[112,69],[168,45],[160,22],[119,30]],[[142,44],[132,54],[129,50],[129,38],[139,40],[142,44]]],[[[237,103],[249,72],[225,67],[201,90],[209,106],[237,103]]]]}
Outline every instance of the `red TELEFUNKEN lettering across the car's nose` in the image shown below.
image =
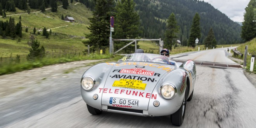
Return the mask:
{"type": "Polygon", "coordinates": [[[145,98],[149,98],[149,99],[151,98],[155,100],[157,97],[157,94],[139,92],[135,90],[111,89],[111,88],[99,88],[99,93],[115,93],[115,94],[123,94],[123,95],[133,95],[137,97],[145,97],[145,98]]]}

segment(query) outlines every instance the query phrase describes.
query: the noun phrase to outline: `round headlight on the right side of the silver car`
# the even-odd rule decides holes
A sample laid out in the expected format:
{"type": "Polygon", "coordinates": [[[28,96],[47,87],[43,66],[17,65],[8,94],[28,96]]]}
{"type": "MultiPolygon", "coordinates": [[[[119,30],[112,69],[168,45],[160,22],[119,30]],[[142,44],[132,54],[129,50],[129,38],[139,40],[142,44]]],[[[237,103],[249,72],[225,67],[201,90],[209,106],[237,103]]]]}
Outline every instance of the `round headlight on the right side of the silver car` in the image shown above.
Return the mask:
{"type": "Polygon", "coordinates": [[[170,100],[175,95],[175,87],[169,84],[161,86],[161,94],[164,99],[170,100]]]}

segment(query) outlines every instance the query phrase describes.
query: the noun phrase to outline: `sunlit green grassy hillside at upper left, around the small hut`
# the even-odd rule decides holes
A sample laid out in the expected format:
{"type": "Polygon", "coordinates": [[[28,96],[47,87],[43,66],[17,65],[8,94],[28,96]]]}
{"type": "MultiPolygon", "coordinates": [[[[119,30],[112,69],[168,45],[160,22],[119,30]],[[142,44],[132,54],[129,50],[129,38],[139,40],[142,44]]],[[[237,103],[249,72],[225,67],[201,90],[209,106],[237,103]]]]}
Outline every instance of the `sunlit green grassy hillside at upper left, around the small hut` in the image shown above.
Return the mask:
{"type": "MultiPolygon", "coordinates": [[[[53,13],[50,9],[46,10],[46,12],[37,12],[39,10],[31,10],[30,14],[21,14],[26,13],[22,10],[17,9],[16,13],[20,13],[21,15],[15,16],[7,16],[6,19],[0,18],[0,20],[6,21],[9,20],[10,17],[14,17],[15,22],[19,22],[19,16],[21,16],[22,26],[28,26],[28,33],[25,32],[25,28],[22,29],[22,38],[21,42],[17,42],[17,38],[15,40],[11,40],[9,37],[7,39],[3,39],[0,37],[0,57],[16,57],[17,54],[21,55],[21,61],[25,61],[26,55],[29,54],[28,45],[29,37],[33,34],[33,28],[46,28],[52,29],[52,34],[49,38],[45,38],[42,36],[42,32],[38,34],[36,32],[35,39],[40,42],[40,45],[45,47],[45,50],[48,55],[53,54],[82,54],[82,51],[86,49],[82,43],[85,39],[85,34],[88,34],[87,26],[89,24],[88,17],[92,17],[92,12],[85,7],[85,5],[78,3],[75,5],[75,1],[73,4],[69,3],[68,9],[63,9],[62,7],[58,7],[58,11],[53,13]],[[33,13],[36,12],[36,13],[33,13]],[[61,20],[61,16],[65,17],[71,16],[75,19],[76,22],[65,22],[61,20]]],[[[11,13],[7,12],[7,15],[11,13]]],[[[13,14],[13,13],[12,13],[13,14]]],[[[16,24],[15,23],[15,24],[16,24]]]]}

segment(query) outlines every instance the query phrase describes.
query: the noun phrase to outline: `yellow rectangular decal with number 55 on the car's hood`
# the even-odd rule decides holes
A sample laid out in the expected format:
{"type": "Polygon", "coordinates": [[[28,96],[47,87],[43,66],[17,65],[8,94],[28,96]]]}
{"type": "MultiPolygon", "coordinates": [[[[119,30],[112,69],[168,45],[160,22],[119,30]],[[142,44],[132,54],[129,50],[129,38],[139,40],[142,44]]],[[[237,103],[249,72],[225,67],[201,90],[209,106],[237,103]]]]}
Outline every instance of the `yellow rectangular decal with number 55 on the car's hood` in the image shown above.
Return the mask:
{"type": "Polygon", "coordinates": [[[141,80],[120,79],[119,81],[116,80],[112,86],[145,90],[146,85],[141,80]]]}

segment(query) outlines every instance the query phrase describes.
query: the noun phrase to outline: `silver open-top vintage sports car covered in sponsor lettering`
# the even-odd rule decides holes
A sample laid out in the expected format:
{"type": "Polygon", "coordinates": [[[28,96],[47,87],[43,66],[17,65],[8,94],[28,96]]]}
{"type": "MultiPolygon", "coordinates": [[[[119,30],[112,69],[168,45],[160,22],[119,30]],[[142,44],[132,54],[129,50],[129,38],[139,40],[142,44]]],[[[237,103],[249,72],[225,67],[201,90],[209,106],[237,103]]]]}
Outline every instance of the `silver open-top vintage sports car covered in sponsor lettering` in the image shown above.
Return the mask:
{"type": "Polygon", "coordinates": [[[181,63],[163,55],[128,54],[117,63],[88,69],[81,79],[81,95],[91,114],[170,115],[171,123],[180,126],[195,76],[192,60],[181,63]]]}

